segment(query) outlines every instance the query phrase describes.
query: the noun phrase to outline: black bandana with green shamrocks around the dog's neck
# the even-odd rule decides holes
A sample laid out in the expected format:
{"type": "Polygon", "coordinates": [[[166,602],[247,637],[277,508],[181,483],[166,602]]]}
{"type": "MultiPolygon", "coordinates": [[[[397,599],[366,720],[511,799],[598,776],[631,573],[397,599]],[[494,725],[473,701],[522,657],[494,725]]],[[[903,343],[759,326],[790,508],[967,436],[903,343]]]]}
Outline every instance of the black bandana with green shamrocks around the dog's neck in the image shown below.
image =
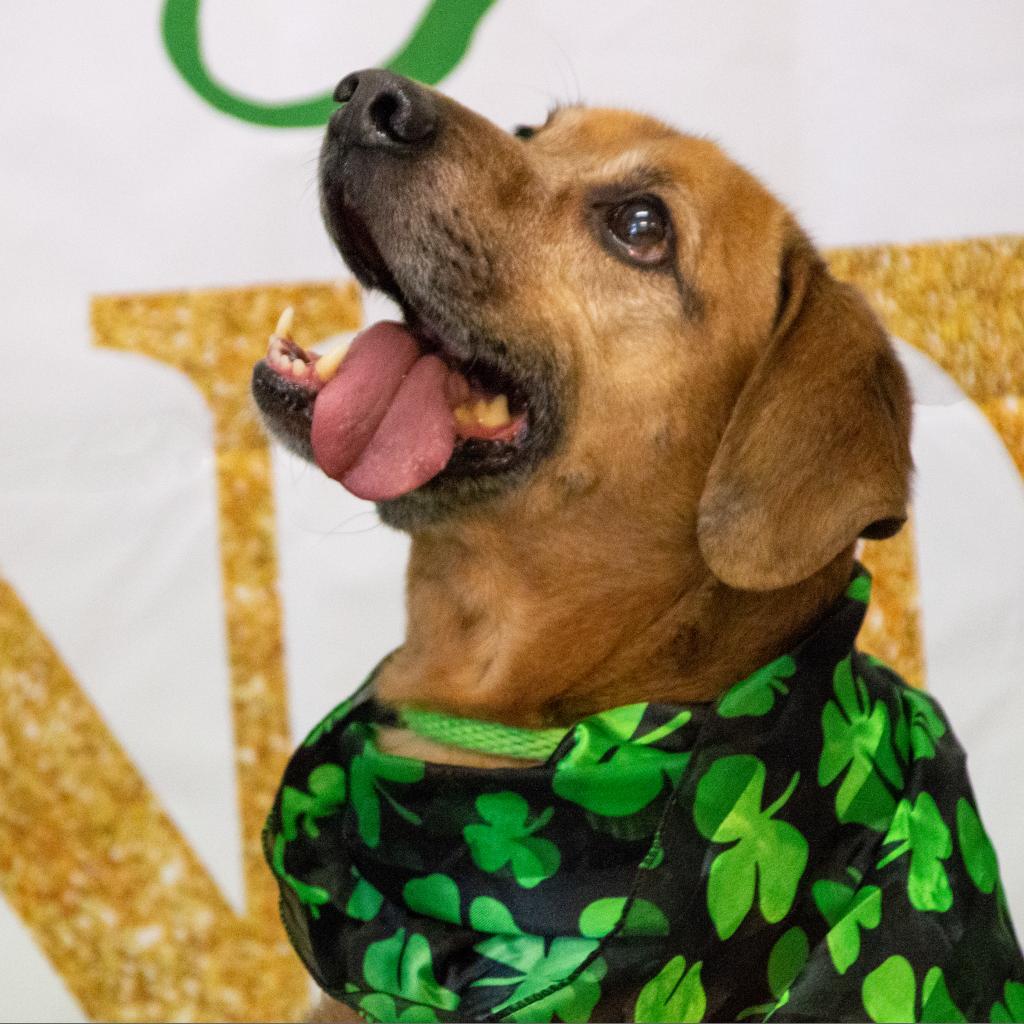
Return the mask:
{"type": "Polygon", "coordinates": [[[522,769],[382,754],[371,679],[264,834],[319,985],[371,1021],[1024,1020],[942,713],[854,649],[869,581],[714,703],[636,703],[522,769]]]}

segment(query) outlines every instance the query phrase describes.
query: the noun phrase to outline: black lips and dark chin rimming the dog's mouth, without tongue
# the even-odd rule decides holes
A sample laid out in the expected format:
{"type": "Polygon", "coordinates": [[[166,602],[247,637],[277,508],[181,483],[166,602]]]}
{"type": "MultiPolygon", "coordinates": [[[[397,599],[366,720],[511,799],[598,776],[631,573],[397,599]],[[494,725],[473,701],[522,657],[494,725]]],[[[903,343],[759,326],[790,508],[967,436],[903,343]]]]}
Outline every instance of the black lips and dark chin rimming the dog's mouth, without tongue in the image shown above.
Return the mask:
{"type": "MultiPolygon", "coordinates": [[[[556,395],[564,389],[554,367],[542,354],[515,354],[503,339],[492,337],[470,317],[456,321],[450,312],[458,308],[456,301],[441,297],[428,306],[411,299],[401,287],[400,271],[385,263],[360,218],[350,212],[325,210],[325,214],[353,274],[368,289],[382,291],[398,304],[403,329],[420,352],[439,357],[468,384],[471,395],[484,399],[501,395],[508,401],[507,427],[478,428],[476,433],[482,436],[474,436],[473,428],[458,429],[451,458],[437,473],[403,494],[376,499],[381,520],[397,529],[417,530],[521,486],[552,455],[562,433],[562,403],[556,395]]],[[[287,369],[287,360],[283,370],[268,353],[253,372],[253,396],[269,432],[294,454],[317,461],[311,442],[313,411],[323,387],[314,373],[317,356],[290,340],[287,354],[307,364],[303,374],[296,377],[287,369]]]]}

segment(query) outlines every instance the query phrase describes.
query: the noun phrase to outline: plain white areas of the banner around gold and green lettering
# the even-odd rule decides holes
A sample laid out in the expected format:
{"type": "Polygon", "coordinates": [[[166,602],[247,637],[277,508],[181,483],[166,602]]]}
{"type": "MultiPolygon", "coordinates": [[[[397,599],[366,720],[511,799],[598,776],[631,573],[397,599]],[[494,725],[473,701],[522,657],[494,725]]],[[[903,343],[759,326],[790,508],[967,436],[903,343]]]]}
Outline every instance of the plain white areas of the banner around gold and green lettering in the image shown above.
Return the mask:
{"type": "MultiPolygon", "coordinates": [[[[423,8],[207,0],[205,53],[267,100],[324,91],[390,55],[423,8]]],[[[318,223],[318,130],[203,102],[160,10],[3,5],[0,575],[238,902],[210,416],[179,374],[92,347],[89,301],[344,271],[318,223]]],[[[824,246],[1022,233],[1022,42],[1018,0],[499,0],[441,87],[509,126],[583,98],[708,133],[824,246]]],[[[929,686],[1024,926],[1024,484],[956,386],[904,354],[929,686]]],[[[274,472],[302,733],[401,636],[406,544],[290,457],[274,472]]],[[[2,900],[0,949],[0,1018],[82,1019],[2,900]]]]}

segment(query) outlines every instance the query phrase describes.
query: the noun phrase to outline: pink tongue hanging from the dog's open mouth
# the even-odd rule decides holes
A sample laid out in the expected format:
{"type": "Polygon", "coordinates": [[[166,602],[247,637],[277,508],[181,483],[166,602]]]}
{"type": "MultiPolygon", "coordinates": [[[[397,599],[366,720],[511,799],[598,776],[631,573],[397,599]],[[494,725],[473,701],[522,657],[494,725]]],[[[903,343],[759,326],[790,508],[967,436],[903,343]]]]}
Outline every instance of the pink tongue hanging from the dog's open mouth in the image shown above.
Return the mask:
{"type": "Polygon", "coordinates": [[[455,450],[449,370],[421,355],[400,324],[364,331],[313,406],[316,464],[358,498],[380,502],[436,476],[455,450]]]}

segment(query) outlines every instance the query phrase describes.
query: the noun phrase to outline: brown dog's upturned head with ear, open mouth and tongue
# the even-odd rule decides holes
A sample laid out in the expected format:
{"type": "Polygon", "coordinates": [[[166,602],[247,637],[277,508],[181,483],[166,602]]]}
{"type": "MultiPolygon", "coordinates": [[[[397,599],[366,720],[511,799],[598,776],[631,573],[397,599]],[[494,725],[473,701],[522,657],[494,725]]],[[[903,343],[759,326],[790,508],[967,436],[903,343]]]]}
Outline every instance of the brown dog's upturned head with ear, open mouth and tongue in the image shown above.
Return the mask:
{"type": "Polygon", "coordinates": [[[263,362],[254,391],[386,522],[528,530],[586,508],[692,538],[752,590],[899,527],[909,398],[888,339],[716,145],[583,108],[508,134],[380,71],[337,98],[325,221],[404,325],[371,328],[326,385],[263,362]],[[372,436],[352,441],[356,417],[372,436]]]}

